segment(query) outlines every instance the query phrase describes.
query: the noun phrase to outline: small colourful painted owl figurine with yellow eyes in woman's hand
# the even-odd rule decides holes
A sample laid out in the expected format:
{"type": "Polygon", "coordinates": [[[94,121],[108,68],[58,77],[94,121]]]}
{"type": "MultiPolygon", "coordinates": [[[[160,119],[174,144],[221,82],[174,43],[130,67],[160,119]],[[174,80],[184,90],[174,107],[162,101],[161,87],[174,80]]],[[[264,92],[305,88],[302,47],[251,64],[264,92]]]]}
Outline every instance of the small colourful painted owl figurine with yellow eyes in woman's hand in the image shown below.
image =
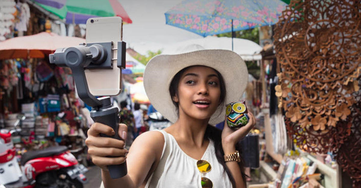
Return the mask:
{"type": "Polygon", "coordinates": [[[226,105],[227,125],[230,128],[238,129],[245,126],[249,117],[245,101],[231,102],[226,105]]]}

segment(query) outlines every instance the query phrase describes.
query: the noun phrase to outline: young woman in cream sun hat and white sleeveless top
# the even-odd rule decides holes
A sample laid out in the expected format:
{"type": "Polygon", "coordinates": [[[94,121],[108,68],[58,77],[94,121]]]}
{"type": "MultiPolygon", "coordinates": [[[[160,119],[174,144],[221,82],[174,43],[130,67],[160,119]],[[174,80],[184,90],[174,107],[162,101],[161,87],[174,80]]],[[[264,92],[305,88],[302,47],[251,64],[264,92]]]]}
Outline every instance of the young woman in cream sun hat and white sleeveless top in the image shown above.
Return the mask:
{"type": "MultiPolygon", "coordinates": [[[[245,188],[236,143],[254,126],[238,130],[212,125],[225,119],[225,104],[239,100],[248,71],[242,58],[225,50],[197,50],[160,55],[148,62],[144,87],[149,100],[172,124],[161,131],[139,135],[129,152],[124,141],[99,137],[112,128],[94,123],[86,144],[101,168],[105,188],[245,188]],[[114,156],[108,158],[105,156],[114,156]],[[128,174],[111,179],[107,165],[127,161],[128,174]]],[[[119,135],[126,139],[126,125],[119,135]]]]}

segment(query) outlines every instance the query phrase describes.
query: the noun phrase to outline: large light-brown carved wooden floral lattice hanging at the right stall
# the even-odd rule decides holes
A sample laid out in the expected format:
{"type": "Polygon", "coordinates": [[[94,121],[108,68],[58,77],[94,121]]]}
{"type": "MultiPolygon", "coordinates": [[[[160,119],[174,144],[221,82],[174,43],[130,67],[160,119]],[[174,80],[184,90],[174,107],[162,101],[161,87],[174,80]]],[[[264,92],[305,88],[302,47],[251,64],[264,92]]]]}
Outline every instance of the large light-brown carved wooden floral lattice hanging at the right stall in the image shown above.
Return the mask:
{"type": "Polygon", "coordinates": [[[293,0],[275,27],[280,102],[292,122],[289,130],[298,135],[297,144],[306,143],[309,152],[327,153],[329,140],[342,142],[335,135],[351,127],[336,124],[351,113],[353,82],[361,73],[360,6],[341,0],[293,0]]]}

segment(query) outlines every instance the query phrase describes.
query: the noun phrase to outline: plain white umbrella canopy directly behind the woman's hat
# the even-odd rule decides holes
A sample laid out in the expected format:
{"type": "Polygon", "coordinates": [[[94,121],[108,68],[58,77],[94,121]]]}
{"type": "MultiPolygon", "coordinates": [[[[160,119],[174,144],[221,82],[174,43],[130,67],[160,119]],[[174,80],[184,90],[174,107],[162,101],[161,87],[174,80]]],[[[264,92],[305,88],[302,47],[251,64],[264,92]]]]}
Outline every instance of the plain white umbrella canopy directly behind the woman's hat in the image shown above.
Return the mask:
{"type": "MultiPolygon", "coordinates": [[[[201,45],[205,49],[232,50],[232,38],[207,36],[201,39],[191,39],[169,45],[164,48],[162,54],[175,54],[179,51],[179,49],[185,48],[192,44],[201,45]]],[[[233,45],[233,51],[239,54],[245,61],[262,59],[260,54],[262,47],[251,40],[234,38],[233,45]]]]}

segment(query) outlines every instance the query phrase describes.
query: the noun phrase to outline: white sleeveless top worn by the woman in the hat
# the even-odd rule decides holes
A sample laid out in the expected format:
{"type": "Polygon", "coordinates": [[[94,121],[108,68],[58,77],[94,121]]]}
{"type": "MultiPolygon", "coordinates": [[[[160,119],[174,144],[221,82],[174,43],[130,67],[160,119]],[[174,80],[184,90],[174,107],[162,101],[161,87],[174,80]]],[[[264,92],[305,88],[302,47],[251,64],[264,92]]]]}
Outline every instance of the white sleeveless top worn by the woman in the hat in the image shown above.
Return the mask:
{"type": "Polygon", "coordinates": [[[212,140],[209,140],[209,145],[201,158],[208,161],[212,169],[201,174],[197,169],[197,160],[184,153],[171,134],[164,130],[160,132],[165,140],[162,156],[145,188],[202,188],[202,177],[210,179],[214,188],[232,187],[227,172],[217,161],[212,140]]]}

